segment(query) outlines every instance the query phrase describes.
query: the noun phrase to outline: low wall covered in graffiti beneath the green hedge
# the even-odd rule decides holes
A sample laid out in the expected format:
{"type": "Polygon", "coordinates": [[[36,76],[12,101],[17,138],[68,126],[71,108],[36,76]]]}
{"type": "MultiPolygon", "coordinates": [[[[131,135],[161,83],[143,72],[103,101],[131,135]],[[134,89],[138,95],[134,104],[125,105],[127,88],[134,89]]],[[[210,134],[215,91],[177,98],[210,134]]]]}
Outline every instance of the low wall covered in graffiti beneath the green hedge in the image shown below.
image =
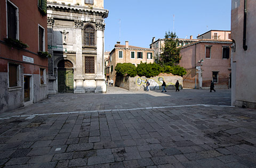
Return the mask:
{"type": "Polygon", "coordinates": [[[160,73],[157,77],[116,77],[115,86],[127,89],[127,90],[146,90],[146,79],[149,81],[150,90],[162,90],[163,80],[166,83],[166,90],[175,89],[175,83],[179,80],[180,89],[183,87],[183,78],[178,75],[160,73]]]}

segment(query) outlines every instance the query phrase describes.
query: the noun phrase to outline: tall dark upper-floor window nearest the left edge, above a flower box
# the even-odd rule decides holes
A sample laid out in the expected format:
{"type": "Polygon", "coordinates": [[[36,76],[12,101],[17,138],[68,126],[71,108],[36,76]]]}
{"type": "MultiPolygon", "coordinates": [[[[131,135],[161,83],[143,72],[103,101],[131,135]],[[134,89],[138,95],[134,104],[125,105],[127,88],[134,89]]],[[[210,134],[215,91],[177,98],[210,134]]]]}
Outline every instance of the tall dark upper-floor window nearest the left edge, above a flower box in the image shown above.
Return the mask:
{"type": "Polygon", "coordinates": [[[18,39],[18,8],[7,1],[7,37],[18,39]]]}

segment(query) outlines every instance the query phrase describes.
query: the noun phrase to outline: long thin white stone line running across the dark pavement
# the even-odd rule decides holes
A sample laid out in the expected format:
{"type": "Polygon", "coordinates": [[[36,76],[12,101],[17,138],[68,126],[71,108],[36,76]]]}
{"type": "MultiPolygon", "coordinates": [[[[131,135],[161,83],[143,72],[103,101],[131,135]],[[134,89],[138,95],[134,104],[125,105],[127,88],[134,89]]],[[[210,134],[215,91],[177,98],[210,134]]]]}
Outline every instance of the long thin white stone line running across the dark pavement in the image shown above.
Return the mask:
{"type": "Polygon", "coordinates": [[[32,115],[13,115],[10,117],[0,118],[0,120],[8,120],[14,117],[27,117],[26,119],[33,119],[35,116],[42,115],[56,115],[56,114],[75,114],[75,113],[95,113],[95,112],[114,112],[114,111],[133,111],[133,110],[148,110],[156,108],[177,108],[177,107],[193,107],[193,106],[205,106],[205,107],[235,107],[226,105],[210,105],[210,104],[194,104],[194,105],[179,105],[179,106],[163,106],[163,107],[140,107],[140,108],[130,108],[130,109],[114,109],[114,110],[94,110],[94,111],[83,111],[83,112],[63,112],[63,113],[46,113],[46,114],[32,114],[32,115]]]}

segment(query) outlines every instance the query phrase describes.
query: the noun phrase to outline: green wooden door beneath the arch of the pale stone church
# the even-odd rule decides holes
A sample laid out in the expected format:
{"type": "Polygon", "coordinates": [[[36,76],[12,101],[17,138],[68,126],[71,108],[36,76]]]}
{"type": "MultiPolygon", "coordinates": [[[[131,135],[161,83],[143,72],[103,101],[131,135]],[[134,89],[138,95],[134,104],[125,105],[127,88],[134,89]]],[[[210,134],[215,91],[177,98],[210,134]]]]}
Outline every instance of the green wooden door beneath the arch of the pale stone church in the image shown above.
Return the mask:
{"type": "Polygon", "coordinates": [[[73,93],[74,74],[73,70],[58,70],[58,90],[59,93],[73,93]]]}

